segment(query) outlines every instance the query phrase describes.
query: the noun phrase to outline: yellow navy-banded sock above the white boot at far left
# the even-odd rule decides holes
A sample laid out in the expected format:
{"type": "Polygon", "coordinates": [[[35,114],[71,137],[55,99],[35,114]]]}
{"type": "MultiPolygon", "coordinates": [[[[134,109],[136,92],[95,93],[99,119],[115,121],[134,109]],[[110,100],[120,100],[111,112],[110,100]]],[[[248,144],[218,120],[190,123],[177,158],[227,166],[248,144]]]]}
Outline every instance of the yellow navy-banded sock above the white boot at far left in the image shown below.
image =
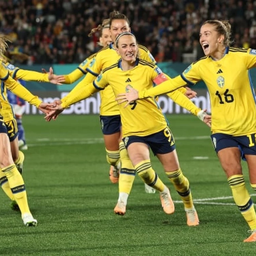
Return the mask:
{"type": "Polygon", "coordinates": [[[14,199],[17,202],[22,215],[24,213],[30,213],[24,181],[16,166],[14,164],[9,165],[3,168],[2,172],[6,175],[9,181],[14,199]]]}

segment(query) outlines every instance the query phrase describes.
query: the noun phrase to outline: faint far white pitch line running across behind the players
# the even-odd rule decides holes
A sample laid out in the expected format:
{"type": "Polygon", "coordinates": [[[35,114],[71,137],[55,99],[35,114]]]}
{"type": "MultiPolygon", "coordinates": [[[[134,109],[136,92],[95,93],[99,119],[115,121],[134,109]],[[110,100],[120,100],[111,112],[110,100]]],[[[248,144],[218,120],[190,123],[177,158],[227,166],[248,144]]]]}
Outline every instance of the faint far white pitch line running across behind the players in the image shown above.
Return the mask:
{"type": "MultiPolygon", "coordinates": [[[[205,140],[209,136],[176,137],[175,140],[205,140]]],[[[81,145],[103,143],[103,138],[38,138],[28,140],[29,147],[37,146],[59,146],[59,145],[81,145]],[[42,143],[43,142],[43,143],[42,143]]]]}

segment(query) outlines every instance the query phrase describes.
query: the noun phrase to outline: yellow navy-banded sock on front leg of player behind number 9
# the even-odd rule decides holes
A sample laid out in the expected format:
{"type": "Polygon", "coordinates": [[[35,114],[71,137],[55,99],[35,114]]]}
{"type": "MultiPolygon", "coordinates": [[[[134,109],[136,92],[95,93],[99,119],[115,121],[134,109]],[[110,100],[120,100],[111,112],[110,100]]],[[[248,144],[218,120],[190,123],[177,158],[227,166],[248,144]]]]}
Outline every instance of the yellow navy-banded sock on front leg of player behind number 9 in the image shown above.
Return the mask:
{"type": "Polygon", "coordinates": [[[121,159],[121,171],[119,175],[119,193],[130,194],[132,184],[135,178],[135,169],[131,163],[128,152],[125,148],[124,142],[121,141],[120,147],[120,159],[121,159]]]}

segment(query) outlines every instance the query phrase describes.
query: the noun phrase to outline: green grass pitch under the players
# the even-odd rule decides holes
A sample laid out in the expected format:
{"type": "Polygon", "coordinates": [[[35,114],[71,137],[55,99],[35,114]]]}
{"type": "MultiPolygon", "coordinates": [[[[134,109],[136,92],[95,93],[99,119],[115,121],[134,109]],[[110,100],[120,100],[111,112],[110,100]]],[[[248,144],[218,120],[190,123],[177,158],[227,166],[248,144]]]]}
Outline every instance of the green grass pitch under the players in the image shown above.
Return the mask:
{"type": "Polygon", "coordinates": [[[23,176],[38,226],[23,226],[2,193],[0,255],[254,255],[256,243],[243,243],[248,227],[233,204],[210,130],[191,115],[167,117],[198,227],[186,226],[183,204],[154,156],[153,168],[171,190],[175,213],[166,215],[159,195],[145,194],[136,177],[126,215],[114,215],[118,185],[109,181],[98,116],[62,115],[51,123],[24,116],[29,149],[23,176]]]}

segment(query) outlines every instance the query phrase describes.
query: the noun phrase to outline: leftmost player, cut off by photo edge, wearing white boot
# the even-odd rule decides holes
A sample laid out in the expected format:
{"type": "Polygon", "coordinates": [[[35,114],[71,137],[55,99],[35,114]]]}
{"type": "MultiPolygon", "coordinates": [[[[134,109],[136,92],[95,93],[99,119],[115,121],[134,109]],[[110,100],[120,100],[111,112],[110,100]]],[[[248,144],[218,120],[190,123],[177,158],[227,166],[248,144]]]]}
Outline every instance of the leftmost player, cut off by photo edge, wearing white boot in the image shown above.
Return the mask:
{"type": "MultiPolygon", "coordinates": [[[[1,51],[3,48],[1,48],[1,51]]],[[[37,106],[40,110],[46,113],[46,109],[50,108],[51,104],[42,103],[38,97],[32,95],[26,88],[17,83],[9,75],[8,69],[4,66],[4,63],[0,60],[0,80],[1,87],[4,89],[7,87],[14,94],[20,98],[28,101],[29,103],[37,106]]],[[[1,178],[0,183],[6,183],[10,186],[10,197],[14,197],[17,202],[20,212],[22,214],[22,220],[25,226],[36,226],[37,220],[33,218],[27,201],[27,194],[22,179],[22,175],[19,173],[12,157],[11,144],[8,136],[8,128],[5,126],[5,122],[2,113],[5,111],[4,102],[7,101],[3,93],[0,95],[0,169],[1,178]]]]}

